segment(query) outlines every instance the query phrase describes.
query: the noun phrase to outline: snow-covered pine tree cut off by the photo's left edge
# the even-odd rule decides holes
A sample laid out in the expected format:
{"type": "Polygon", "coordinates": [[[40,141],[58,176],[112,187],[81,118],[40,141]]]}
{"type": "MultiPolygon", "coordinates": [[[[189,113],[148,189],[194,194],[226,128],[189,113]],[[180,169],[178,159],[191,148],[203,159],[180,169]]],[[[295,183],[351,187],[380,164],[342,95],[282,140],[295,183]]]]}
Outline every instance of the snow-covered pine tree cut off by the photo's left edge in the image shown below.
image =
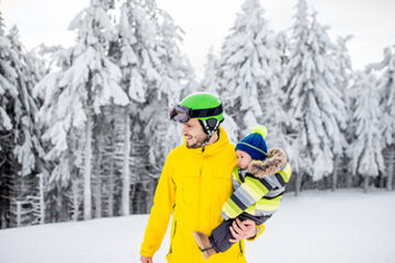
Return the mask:
{"type": "Polygon", "coordinates": [[[5,35],[1,15],[0,46],[0,192],[4,195],[0,225],[18,226],[16,218],[23,225],[44,222],[44,215],[35,213],[44,211],[40,207],[44,204],[29,198],[40,196],[40,174],[46,174],[41,133],[34,122],[38,101],[32,96],[42,76],[36,58],[20,43],[16,27],[5,35]]]}

